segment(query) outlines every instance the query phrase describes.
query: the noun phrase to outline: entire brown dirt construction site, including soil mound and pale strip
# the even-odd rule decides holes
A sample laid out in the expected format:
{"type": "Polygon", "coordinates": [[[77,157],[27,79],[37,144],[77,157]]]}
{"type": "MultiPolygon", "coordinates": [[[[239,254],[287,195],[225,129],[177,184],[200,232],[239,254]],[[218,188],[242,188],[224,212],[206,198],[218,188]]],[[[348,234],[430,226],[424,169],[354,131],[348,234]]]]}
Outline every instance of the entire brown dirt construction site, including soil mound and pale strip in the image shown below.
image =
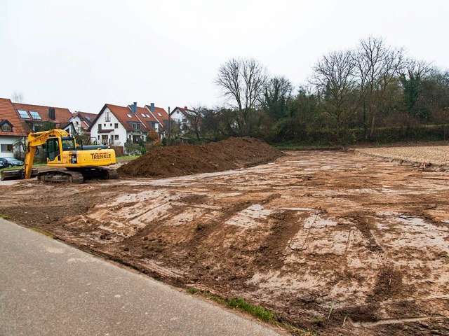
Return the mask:
{"type": "Polygon", "coordinates": [[[449,335],[449,146],[216,146],[142,155],[117,180],[1,186],[0,213],[310,335],[449,335]]]}

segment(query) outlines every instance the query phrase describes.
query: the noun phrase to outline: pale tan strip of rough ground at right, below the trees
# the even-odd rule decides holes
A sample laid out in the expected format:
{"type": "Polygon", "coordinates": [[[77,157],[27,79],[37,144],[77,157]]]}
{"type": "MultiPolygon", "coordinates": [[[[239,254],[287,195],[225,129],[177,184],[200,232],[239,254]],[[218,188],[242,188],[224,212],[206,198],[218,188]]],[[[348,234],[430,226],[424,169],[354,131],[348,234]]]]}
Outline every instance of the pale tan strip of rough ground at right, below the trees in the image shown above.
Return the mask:
{"type": "Polygon", "coordinates": [[[449,146],[357,148],[356,153],[368,154],[380,158],[417,162],[426,165],[449,165],[449,146]]]}

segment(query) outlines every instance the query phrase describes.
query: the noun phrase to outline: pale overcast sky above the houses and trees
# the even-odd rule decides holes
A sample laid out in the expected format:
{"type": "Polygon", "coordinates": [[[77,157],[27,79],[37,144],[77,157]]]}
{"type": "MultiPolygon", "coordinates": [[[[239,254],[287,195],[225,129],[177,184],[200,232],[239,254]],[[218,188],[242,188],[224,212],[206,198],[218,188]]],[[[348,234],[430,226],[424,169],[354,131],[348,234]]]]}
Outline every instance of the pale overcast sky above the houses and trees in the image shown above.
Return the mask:
{"type": "Polygon", "coordinates": [[[0,97],[93,113],[212,107],[231,57],[300,85],[326,52],[370,35],[447,69],[448,15],[446,0],[0,0],[0,97]]]}

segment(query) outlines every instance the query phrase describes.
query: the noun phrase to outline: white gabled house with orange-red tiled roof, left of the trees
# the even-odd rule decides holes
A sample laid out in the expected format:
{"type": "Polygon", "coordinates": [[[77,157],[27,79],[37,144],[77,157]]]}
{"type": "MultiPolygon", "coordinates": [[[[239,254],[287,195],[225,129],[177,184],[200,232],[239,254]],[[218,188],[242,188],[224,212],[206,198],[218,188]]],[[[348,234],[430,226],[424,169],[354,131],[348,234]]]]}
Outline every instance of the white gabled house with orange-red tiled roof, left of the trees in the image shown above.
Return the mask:
{"type": "Polygon", "coordinates": [[[137,106],[137,103],[128,106],[105,104],[88,130],[91,139],[98,144],[124,147],[127,141],[133,144],[147,141],[150,132],[163,136],[163,118],[168,118],[168,113],[154,104],[145,107],[137,106]]]}

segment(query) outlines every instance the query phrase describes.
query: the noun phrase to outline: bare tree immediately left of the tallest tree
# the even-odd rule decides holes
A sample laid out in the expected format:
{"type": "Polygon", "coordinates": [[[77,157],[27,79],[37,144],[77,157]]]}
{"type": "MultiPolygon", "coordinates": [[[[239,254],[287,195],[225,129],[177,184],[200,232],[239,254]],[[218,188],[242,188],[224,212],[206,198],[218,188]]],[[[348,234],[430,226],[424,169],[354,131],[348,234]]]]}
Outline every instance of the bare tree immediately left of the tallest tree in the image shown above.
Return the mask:
{"type": "Polygon", "coordinates": [[[326,113],[335,120],[337,139],[340,140],[341,128],[357,109],[354,97],[358,85],[352,52],[337,51],[324,56],[314,66],[312,83],[323,96],[326,113]]]}

